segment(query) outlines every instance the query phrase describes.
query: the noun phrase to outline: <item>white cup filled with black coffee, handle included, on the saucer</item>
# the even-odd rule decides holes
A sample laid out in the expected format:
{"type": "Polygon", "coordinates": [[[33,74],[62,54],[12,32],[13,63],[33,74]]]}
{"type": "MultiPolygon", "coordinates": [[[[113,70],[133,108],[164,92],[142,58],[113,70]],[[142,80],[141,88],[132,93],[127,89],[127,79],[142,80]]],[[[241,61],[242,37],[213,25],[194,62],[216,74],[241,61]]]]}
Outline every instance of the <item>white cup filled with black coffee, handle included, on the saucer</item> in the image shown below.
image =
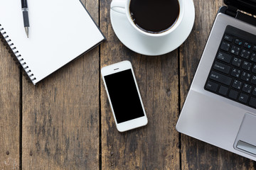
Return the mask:
{"type": "Polygon", "coordinates": [[[137,32],[161,37],[178,28],[184,16],[184,0],[112,0],[111,9],[125,15],[137,32]]]}

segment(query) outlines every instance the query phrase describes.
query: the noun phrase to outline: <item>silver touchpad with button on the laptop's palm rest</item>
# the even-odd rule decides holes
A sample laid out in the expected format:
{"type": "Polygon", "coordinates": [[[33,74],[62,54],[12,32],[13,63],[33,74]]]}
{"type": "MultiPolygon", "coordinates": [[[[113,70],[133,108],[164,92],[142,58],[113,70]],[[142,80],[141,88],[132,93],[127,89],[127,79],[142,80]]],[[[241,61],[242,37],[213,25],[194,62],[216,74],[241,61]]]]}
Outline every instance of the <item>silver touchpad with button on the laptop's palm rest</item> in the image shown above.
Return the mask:
{"type": "Polygon", "coordinates": [[[256,157],[256,116],[245,113],[234,148],[256,157]]]}

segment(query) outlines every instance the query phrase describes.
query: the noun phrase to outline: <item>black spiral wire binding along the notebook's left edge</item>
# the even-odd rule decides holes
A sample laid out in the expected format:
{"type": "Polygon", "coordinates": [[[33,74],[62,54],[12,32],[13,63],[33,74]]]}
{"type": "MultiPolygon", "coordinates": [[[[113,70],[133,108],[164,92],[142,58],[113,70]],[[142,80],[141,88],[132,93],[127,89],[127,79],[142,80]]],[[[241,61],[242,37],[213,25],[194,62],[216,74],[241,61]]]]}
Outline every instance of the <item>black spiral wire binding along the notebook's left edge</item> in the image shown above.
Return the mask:
{"type": "Polygon", "coordinates": [[[16,49],[14,43],[11,41],[11,38],[9,38],[9,35],[7,35],[3,26],[1,26],[1,23],[0,23],[0,40],[1,42],[4,42],[6,49],[11,54],[11,57],[13,57],[16,64],[18,64],[18,67],[23,68],[23,76],[25,76],[28,81],[29,80],[31,80],[32,82],[35,81],[36,77],[34,77],[33,73],[31,72],[31,69],[29,69],[28,65],[23,60],[23,57],[16,49]]]}

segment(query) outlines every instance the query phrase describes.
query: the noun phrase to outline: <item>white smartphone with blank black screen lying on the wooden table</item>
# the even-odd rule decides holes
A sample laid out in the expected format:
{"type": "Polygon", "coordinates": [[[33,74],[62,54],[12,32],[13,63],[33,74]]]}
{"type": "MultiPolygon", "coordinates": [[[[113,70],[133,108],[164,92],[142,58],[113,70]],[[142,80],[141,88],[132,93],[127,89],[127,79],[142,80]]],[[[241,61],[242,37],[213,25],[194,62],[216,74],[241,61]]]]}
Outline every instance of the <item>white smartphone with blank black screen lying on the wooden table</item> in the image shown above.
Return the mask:
{"type": "Polygon", "coordinates": [[[129,61],[102,67],[102,79],[119,132],[147,124],[146,112],[129,61]]]}

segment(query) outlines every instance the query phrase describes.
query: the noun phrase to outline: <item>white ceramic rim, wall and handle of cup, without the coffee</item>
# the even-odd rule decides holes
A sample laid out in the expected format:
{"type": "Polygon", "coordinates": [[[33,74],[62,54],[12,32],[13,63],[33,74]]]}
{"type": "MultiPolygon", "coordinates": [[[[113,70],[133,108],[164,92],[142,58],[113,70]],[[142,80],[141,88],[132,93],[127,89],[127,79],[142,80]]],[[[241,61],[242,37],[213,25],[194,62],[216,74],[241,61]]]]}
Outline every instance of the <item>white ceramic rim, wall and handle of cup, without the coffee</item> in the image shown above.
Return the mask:
{"type": "MultiPolygon", "coordinates": [[[[161,37],[164,35],[168,35],[169,33],[173,32],[178,27],[178,25],[181,23],[183,16],[184,16],[184,0],[178,0],[179,15],[178,15],[176,23],[174,23],[174,25],[171,26],[171,28],[169,28],[168,30],[163,31],[161,33],[149,33],[149,32],[146,32],[146,31],[138,28],[135,25],[135,23],[132,21],[132,18],[131,18],[130,12],[129,12],[130,1],[131,0],[112,0],[110,8],[113,11],[116,11],[118,13],[122,13],[122,14],[126,15],[128,21],[132,25],[132,27],[135,28],[139,33],[142,33],[143,35],[146,35],[146,36],[161,37]]],[[[168,19],[168,18],[166,17],[166,19],[168,19]]]]}

